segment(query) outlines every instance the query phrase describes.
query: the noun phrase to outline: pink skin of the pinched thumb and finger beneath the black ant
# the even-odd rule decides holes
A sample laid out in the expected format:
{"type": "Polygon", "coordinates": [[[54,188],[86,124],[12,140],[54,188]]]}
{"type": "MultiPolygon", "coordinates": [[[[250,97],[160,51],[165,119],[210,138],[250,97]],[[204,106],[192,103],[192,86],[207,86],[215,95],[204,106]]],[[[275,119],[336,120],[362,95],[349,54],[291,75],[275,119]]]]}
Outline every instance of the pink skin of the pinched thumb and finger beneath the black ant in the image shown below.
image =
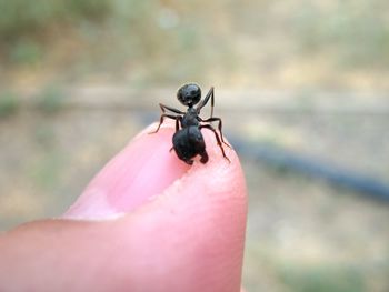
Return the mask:
{"type": "Polygon", "coordinates": [[[232,149],[192,167],[173,125],[138,134],[59,219],[0,235],[0,291],[240,290],[246,184],[232,149]]]}

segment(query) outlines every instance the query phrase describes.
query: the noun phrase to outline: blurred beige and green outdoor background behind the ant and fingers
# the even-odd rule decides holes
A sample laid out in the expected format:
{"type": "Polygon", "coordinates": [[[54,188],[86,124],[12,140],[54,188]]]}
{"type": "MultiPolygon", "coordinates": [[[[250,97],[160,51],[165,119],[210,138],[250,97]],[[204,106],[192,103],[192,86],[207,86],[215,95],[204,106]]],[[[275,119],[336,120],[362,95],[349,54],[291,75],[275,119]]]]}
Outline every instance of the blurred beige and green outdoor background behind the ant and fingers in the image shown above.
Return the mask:
{"type": "Polygon", "coordinates": [[[246,172],[246,289],[389,291],[388,1],[0,11],[0,231],[61,214],[194,81],[246,172]]]}

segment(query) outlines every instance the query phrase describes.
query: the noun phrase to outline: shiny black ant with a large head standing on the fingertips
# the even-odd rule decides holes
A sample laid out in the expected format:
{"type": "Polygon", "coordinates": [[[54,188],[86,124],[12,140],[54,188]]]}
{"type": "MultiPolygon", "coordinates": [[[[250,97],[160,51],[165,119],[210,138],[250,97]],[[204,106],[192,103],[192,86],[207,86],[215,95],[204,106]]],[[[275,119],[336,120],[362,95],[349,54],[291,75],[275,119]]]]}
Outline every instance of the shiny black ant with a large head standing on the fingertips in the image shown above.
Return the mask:
{"type": "Polygon", "coordinates": [[[208,153],[206,150],[206,142],[201,133],[201,129],[208,129],[215,133],[215,138],[221,150],[221,153],[226,160],[230,162],[226,155],[222,143],[230,148],[223,140],[221,132],[222,122],[220,118],[213,117],[215,107],[215,94],[213,87],[208,91],[206,98],[201,100],[201,89],[197,84],[184,84],[177,92],[177,99],[186,107],[186,112],[178,109],[159,104],[162,110],[159,125],[156,131],[157,133],[166,118],[176,120],[176,133],[173,134],[172,142],[173,147],[170,149],[176,151],[178,158],[188,164],[193,164],[193,158],[200,155],[200,162],[208,162],[208,153]],[[200,111],[207,105],[208,101],[211,100],[211,117],[203,120],[199,117],[200,111]],[[197,104],[197,107],[194,107],[197,104]],[[218,130],[212,127],[211,122],[218,122],[218,130]]]}

